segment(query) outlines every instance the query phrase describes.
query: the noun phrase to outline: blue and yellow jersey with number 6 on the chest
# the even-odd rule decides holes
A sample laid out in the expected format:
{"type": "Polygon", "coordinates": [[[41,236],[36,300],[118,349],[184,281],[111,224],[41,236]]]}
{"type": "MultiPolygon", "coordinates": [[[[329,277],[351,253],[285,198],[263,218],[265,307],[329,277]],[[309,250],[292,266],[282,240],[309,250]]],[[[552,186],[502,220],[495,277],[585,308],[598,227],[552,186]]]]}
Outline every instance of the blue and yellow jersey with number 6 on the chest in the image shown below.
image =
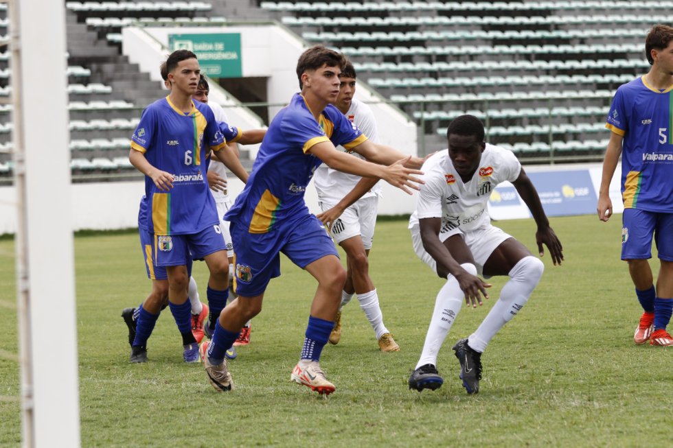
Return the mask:
{"type": "Polygon", "coordinates": [[[206,104],[194,101],[190,113],[183,113],[166,97],[144,110],[131,148],[145,154],[152,166],[173,175],[170,191],[159,190],[145,176],[145,222],[150,233],[197,233],[219,223],[205,162],[208,148],[217,151],[225,143],[206,104]]]}

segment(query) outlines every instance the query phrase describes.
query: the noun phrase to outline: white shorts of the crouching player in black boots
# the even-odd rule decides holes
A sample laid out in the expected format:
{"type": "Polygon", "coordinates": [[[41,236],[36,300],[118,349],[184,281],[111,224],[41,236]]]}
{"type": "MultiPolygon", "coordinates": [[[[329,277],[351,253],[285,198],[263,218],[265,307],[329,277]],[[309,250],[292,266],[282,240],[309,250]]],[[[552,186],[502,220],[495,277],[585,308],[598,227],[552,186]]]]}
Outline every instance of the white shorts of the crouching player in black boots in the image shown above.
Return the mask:
{"type": "MultiPolygon", "coordinates": [[[[409,231],[411,231],[413,251],[416,252],[418,258],[420,258],[423,263],[430,266],[436,274],[437,262],[423,248],[423,241],[420,237],[420,226],[415,224],[409,228],[409,231]]],[[[479,275],[483,275],[483,265],[486,264],[488,257],[491,256],[493,251],[496,250],[505,239],[512,238],[511,235],[508,235],[502,231],[502,229],[488,224],[488,226],[475,228],[475,230],[469,232],[463,232],[460,228],[454,228],[451,231],[440,233],[440,241],[443,243],[448,237],[453,235],[461,235],[463,237],[465,244],[470,249],[470,252],[472,252],[472,257],[475,259],[475,265],[477,266],[479,275]]]]}

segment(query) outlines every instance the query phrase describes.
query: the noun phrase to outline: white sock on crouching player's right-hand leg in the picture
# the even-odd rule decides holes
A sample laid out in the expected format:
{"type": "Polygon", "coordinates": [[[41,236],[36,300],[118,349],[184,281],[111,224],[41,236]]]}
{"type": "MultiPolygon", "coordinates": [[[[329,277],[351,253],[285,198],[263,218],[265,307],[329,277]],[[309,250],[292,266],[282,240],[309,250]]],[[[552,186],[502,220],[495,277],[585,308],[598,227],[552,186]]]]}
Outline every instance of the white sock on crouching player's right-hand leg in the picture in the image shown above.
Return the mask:
{"type": "Polygon", "coordinates": [[[509,272],[510,281],[503,286],[500,298],[481,322],[477,331],[468,338],[473,350],[481,353],[486,350],[493,336],[526,304],[544,271],[544,263],[532,255],[516,263],[509,272]]]}

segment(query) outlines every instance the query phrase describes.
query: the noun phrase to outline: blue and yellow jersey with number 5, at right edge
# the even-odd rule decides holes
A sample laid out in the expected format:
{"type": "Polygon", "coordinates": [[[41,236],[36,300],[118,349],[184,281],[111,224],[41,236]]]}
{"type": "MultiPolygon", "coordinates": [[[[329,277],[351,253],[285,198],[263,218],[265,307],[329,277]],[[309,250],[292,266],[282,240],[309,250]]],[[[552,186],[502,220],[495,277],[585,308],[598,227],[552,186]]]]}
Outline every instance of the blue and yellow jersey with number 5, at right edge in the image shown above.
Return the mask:
{"type": "Polygon", "coordinates": [[[625,209],[673,212],[673,86],[659,91],[645,77],[619,86],[606,128],[624,137],[621,197],[625,209]]]}

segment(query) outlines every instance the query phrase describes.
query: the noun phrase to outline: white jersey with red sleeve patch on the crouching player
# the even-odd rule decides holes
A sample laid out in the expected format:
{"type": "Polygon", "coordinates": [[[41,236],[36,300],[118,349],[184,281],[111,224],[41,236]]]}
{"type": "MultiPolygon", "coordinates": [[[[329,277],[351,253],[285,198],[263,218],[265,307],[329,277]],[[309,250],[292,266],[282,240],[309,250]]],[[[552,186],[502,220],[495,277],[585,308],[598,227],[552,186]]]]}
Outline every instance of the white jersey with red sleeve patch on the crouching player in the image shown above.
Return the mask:
{"type": "MultiPolygon", "coordinates": [[[[486,143],[479,168],[468,182],[461,180],[448,150],[431,156],[421,170],[425,184],[420,186],[415,218],[441,217],[442,232],[468,232],[490,224],[486,204],[491,191],[505,180],[516,180],[521,163],[511,151],[486,143]]],[[[409,228],[417,223],[412,216],[409,228]]]]}

